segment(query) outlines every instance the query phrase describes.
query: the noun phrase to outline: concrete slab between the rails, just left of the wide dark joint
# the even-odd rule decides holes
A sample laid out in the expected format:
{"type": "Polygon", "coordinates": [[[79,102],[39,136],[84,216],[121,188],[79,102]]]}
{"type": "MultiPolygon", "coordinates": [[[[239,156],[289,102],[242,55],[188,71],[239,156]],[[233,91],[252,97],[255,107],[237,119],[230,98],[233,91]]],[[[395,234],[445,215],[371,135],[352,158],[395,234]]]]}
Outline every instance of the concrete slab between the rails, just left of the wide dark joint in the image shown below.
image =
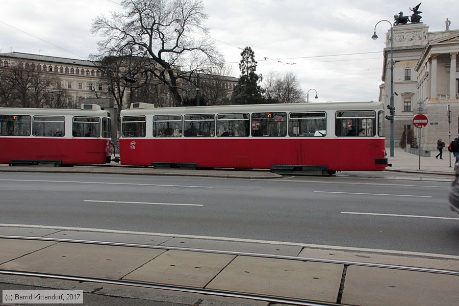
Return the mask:
{"type": "Polygon", "coordinates": [[[343,265],[238,256],[207,289],[336,302],[343,265]]]}

